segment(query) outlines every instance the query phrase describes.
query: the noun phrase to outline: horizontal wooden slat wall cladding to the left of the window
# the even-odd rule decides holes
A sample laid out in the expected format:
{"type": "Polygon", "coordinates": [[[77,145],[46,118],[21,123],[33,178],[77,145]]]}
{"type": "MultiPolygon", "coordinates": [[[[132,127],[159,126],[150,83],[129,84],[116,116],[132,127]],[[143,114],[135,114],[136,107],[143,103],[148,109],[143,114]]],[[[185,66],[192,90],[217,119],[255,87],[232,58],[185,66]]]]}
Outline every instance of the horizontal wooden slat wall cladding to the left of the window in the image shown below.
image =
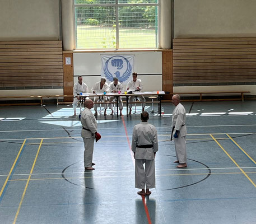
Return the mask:
{"type": "Polygon", "coordinates": [[[0,41],[0,87],[63,86],[62,41],[0,41]]]}

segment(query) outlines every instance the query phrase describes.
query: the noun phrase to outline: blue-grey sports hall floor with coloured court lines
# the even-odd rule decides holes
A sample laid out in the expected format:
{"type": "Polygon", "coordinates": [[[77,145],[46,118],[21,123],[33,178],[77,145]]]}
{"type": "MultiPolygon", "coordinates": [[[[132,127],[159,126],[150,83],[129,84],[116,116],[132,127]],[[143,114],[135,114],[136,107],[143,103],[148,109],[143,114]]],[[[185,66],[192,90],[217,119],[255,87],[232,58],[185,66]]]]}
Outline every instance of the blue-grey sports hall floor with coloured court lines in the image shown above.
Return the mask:
{"type": "Polygon", "coordinates": [[[84,172],[71,105],[0,107],[0,223],[256,223],[256,101],[183,105],[188,167],[175,167],[164,103],[164,116],[150,114],[159,152],[146,198],[130,149],[139,113],[97,116],[95,170],[84,172]]]}

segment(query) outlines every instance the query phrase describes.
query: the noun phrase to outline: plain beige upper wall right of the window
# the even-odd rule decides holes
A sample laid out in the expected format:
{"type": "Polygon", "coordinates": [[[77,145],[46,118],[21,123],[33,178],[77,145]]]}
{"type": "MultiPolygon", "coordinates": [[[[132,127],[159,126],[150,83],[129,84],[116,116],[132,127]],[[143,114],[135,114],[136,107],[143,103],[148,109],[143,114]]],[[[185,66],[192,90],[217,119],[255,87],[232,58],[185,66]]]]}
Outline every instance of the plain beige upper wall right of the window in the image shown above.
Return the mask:
{"type": "Polygon", "coordinates": [[[256,36],[255,0],[174,0],[174,38],[256,36]]]}

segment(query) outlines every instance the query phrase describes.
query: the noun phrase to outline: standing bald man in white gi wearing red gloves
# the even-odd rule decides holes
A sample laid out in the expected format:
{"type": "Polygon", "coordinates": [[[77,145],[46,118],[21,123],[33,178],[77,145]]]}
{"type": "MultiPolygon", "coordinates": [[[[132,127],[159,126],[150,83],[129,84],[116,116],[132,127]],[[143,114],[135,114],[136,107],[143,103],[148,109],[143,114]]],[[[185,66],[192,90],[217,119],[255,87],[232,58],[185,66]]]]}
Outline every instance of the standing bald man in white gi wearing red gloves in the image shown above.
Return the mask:
{"type": "Polygon", "coordinates": [[[85,109],[82,111],[81,115],[81,136],[83,138],[83,143],[85,145],[85,151],[83,153],[83,162],[85,165],[85,170],[94,170],[94,162],[92,162],[92,155],[94,153],[94,139],[99,138],[99,133],[97,133],[97,121],[92,114],[91,109],[94,107],[94,102],[89,99],[85,100],[85,109]]]}

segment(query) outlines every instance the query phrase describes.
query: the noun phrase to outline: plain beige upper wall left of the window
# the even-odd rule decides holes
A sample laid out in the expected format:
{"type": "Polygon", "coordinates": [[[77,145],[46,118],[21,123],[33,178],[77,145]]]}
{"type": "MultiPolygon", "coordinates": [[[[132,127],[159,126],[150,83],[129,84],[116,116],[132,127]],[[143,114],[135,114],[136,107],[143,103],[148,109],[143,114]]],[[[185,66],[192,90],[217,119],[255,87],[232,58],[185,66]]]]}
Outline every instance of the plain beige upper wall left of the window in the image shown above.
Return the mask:
{"type": "Polygon", "coordinates": [[[58,0],[0,0],[0,40],[59,40],[58,0]]]}

